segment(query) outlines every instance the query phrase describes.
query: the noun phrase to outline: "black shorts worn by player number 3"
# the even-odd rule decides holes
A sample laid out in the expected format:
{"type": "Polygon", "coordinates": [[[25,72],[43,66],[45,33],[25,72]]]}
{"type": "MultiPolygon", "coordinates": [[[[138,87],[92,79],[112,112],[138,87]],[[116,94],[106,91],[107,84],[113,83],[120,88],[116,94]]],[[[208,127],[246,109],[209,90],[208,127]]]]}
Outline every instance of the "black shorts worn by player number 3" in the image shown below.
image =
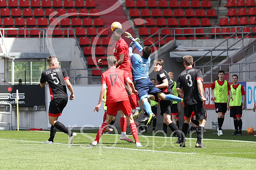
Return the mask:
{"type": "Polygon", "coordinates": [[[195,112],[196,120],[206,119],[205,106],[203,102],[192,104],[184,107],[184,116],[191,117],[192,112],[195,112]]]}

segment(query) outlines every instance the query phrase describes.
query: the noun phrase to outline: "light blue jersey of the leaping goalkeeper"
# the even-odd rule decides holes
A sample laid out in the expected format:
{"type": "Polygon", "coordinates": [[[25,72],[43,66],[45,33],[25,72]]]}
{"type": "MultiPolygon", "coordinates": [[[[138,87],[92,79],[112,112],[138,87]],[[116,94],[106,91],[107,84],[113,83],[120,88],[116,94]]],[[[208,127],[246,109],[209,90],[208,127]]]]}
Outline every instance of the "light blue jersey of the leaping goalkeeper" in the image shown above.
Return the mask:
{"type": "MultiPolygon", "coordinates": [[[[139,53],[141,53],[142,51],[142,46],[135,41],[134,42],[135,47],[139,50],[139,53]]],[[[148,70],[150,67],[150,57],[148,57],[147,59],[141,57],[138,54],[134,54],[132,53],[132,47],[129,47],[129,56],[131,58],[132,61],[132,73],[133,73],[133,79],[134,81],[138,81],[139,79],[149,79],[148,76],[148,70]]]]}

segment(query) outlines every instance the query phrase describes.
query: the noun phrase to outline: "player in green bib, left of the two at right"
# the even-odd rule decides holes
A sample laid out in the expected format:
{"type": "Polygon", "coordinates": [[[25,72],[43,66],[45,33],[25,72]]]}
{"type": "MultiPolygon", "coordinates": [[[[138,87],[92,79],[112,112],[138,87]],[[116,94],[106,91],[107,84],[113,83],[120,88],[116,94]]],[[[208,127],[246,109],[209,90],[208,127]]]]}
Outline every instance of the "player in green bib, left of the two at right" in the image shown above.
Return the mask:
{"type": "Polygon", "coordinates": [[[219,70],[218,77],[219,80],[216,80],[212,83],[211,86],[211,94],[214,100],[216,113],[218,113],[218,136],[223,135],[222,125],[224,122],[225,113],[227,111],[228,105],[228,92],[230,94],[230,98],[233,101],[232,92],[230,90],[230,85],[227,80],[224,80],[225,72],[223,70],[219,70]],[[214,93],[213,93],[214,89],[214,93]]]}

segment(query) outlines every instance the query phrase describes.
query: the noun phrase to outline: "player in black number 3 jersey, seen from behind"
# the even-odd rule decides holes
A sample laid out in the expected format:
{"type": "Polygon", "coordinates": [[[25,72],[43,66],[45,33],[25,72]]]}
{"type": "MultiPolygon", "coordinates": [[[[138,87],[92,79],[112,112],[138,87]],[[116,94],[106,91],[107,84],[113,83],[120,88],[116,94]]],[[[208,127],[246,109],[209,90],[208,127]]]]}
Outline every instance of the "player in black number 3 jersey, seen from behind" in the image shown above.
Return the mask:
{"type": "MultiPolygon", "coordinates": [[[[206,119],[203,102],[205,102],[206,99],[203,96],[202,72],[199,69],[192,68],[192,56],[184,56],[183,61],[186,69],[178,76],[176,90],[181,93],[184,91],[183,106],[185,117],[191,117],[191,114],[194,111],[196,120],[199,121],[197,141],[195,146],[196,148],[205,148],[205,146],[202,144],[202,139],[206,119]]],[[[182,126],[182,132],[185,136],[188,132],[190,121],[191,118],[186,119],[182,126]]],[[[182,135],[183,139],[182,143],[180,143],[181,147],[185,147],[185,136],[182,135]]]]}

